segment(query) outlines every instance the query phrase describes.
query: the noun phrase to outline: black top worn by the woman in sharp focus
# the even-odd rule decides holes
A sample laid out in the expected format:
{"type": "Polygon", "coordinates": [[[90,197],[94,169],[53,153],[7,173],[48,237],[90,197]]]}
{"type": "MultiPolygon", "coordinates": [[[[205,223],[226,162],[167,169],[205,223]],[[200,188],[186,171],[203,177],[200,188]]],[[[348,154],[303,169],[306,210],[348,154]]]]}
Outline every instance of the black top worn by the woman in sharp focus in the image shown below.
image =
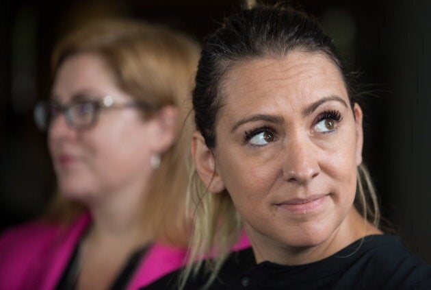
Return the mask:
{"type": "MultiPolygon", "coordinates": [[[[231,254],[209,289],[431,289],[431,266],[391,235],[367,236],[306,265],[253,265],[250,256],[250,249],[231,254]]],[[[178,274],[143,289],[178,289],[178,274]]],[[[200,271],[187,280],[185,289],[202,289],[208,277],[200,271]]]]}

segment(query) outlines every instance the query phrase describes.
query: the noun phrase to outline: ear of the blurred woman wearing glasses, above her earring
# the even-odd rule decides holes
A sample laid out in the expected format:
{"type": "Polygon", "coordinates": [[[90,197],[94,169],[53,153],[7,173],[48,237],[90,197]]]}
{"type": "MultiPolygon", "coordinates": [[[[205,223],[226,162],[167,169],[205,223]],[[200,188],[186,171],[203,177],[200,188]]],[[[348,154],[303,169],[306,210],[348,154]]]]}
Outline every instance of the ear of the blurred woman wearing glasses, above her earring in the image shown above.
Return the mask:
{"type": "Polygon", "coordinates": [[[164,106],[153,117],[157,125],[157,152],[166,152],[176,141],[178,134],[179,109],[174,106],[164,106]]]}

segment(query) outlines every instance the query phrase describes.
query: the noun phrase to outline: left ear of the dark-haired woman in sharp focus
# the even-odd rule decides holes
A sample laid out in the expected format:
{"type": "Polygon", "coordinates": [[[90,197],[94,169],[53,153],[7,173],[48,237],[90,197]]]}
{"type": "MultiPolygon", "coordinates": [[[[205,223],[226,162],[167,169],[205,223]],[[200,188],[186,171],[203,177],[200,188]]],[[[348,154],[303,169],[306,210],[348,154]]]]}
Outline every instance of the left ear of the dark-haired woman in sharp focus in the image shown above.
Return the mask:
{"type": "Polygon", "coordinates": [[[224,190],[222,177],[215,169],[213,152],[205,144],[205,139],[199,131],[192,134],[192,157],[200,179],[211,193],[220,193],[224,190]]]}

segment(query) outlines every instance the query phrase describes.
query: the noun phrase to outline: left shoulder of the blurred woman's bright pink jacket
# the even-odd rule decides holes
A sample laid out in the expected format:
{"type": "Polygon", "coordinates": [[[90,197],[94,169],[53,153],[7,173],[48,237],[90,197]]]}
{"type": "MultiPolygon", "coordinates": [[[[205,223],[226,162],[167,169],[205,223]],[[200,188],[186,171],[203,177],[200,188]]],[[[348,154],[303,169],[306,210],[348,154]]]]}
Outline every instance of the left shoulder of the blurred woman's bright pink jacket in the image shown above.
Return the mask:
{"type": "Polygon", "coordinates": [[[4,230],[0,234],[0,289],[21,289],[23,283],[41,282],[53,263],[64,260],[73,250],[86,224],[86,217],[70,226],[39,219],[4,230]]]}

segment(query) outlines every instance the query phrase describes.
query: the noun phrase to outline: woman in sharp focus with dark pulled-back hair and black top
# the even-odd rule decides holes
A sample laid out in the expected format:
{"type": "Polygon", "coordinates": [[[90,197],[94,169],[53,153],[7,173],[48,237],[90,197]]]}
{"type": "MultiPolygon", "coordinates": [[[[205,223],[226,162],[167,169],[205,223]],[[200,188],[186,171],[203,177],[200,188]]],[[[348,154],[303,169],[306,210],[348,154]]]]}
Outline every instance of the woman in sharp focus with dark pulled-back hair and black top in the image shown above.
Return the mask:
{"type": "Polygon", "coordinates": [[[193,106],[181,288],[430,289],[431,267],[380,228],[363,112],[315,19],[280,6],[228,18],[203,47],[193,106]],[[242,227],[257,265],[226,259],[242,227]]]}

